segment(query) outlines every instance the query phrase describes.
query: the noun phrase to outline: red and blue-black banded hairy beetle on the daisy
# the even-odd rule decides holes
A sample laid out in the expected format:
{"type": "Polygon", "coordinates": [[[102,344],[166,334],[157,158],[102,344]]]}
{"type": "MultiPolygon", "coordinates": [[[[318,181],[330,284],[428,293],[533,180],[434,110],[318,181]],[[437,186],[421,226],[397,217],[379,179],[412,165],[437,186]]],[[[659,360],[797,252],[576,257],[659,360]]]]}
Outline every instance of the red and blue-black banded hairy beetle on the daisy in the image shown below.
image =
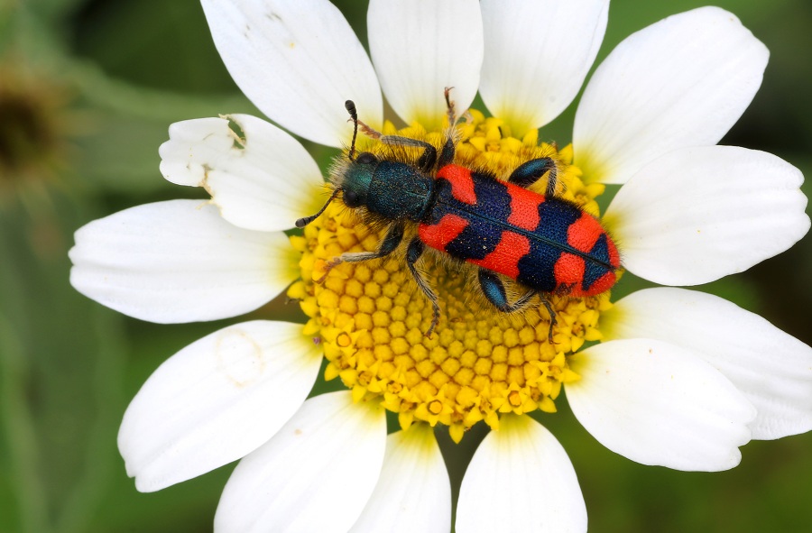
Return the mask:
{"type": "Polygon", "coordinates": [[[549,311],[552,343],[556,314],[548,297],[582,298],[611,289],[620,268],[617,247],[595,216],[556,196],[558,168],[552,158],[526,161],[506,181],[487,170],[456,164],[456,119],[449,90],[445,96],[451,125],[439,153],[429,142],[374,131],[358,120],[355,103],[346,101],[354,124],[352,145],[346,159],[339,158],[334,164],[334,188],[327,203],[315,215],[297,220],[296,226],[301,228],[315,220],[340,194],[346,207],[388,229],[377,251],[341,254],[327,263],[318,282],[342,262],[386,257],[398,248],[404,235],[411,234],[405,260],[432,306],[427,336],[438,325],[440,315],[436,293],[416,268],[428,247],[478,267],[477,280],[485,299],[502,312],[525,308],[539,296],[549,311]],[[421,149],[420,158],[404,162],[403,157],[356,154],[359,124],[364,133],[384,144],[421,149]],[[544,194],[528,188],[545,175],[544,194]],[[509,302],[500,275],[517,281],[526,292],[509,302]]]}

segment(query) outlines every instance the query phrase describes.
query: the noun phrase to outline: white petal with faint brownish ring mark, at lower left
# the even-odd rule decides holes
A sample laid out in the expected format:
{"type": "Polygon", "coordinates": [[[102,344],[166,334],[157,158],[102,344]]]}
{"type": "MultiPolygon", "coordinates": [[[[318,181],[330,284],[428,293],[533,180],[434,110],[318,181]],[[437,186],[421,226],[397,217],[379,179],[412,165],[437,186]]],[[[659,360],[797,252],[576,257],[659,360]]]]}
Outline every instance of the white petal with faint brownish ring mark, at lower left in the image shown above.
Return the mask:
{"type": "Polygon", "coordinates": [[[118,432],[138,490],[186,481],[267,442],[316,381],[320,350],[301,328],[263,320],[228,326],[161,364],[118,432]]]}

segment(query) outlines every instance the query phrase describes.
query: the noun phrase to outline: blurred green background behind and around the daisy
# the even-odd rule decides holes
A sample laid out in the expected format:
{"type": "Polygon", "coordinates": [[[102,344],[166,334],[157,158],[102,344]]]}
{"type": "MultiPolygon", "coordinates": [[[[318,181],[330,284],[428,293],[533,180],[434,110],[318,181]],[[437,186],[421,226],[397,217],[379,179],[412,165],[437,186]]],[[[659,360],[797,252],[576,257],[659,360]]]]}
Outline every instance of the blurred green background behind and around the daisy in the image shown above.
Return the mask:
{"type": "MultiPolygon", "coordinates": [[[[366,3],[337,4],[365,43],[366,3]]],[[[699,5],[614,0],[598,60],[630,32],[699,5]]],[[[776,153],[812,176],[812,3],[717,5],[771,52],[761,91],[722,143],[776,153]]],[[[203,198],[161,179],[157,149],[172,122],[230,112],[258,113],[193,0],[0,0],[0,533],[211,529],[233,465],[141,494],[115,437],[128,400],[165,358],[234,321],[156,326],[120,316],[69,286],[67,251],[72,233],[99,216],[203,198]]],[[[569,142],[573,114],[570,106],[541,136],[569,142]]],[[[335,154],[309,148],[323,164],[335,154]]],[[[700,289],[810,344],[810,270],[807,235],[700,289]]],[[[641,285],[627,276],[616,292],[641,285]]],[[[277,301],[257,314],[291,308],[277,301]]],[[[780,353],[770,356],[780,364],[780,353]]],[[[673,472],[607,451],[558,404],[540,420],[575,464],[593,532],[812,530],[812,435],[744,446],[730,472],[673,472]]],[[[483,435],[475,429],[454,446],[438,431],[455,493],[483,435]]]]}

